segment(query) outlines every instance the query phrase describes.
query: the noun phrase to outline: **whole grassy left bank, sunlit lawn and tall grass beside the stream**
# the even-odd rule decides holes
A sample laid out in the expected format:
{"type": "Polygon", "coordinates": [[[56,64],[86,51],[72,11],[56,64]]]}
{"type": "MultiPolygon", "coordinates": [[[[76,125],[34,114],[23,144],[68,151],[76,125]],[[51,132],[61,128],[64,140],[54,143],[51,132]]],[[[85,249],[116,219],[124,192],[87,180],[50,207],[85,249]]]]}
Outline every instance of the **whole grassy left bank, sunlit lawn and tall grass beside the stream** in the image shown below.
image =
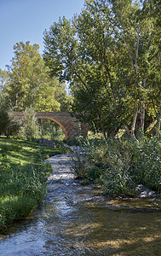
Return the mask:
{"type": "Polygon", "coordinates": [[[0,137],[0,229],[26,217],[43,201],[52,171],[43,160],[65,151],[0,137]]]}

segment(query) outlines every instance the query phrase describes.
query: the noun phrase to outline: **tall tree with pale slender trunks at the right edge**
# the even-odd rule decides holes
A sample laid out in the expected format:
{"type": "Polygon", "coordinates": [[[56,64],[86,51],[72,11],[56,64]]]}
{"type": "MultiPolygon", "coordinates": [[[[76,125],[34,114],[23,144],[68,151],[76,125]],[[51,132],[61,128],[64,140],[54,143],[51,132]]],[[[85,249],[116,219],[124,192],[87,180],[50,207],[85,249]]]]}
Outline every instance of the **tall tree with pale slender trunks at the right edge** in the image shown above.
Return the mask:
{"type": "Polygon", "coordinates": [[[140,114],[140,126],[144,131],[145,115],[154,119],[158,116],[160,106],[160,61],[158,1],[110,1],[115,13],[121,37],[119,41],[127,49],[129,57],[129,82],[135,93],[135,113],[131,134],[135,136],[136,119],[140,114]],[[122,8],[120,8],[122,7],[122,8]],[[129,63],[130,64],[130,63],[129,63]]]}

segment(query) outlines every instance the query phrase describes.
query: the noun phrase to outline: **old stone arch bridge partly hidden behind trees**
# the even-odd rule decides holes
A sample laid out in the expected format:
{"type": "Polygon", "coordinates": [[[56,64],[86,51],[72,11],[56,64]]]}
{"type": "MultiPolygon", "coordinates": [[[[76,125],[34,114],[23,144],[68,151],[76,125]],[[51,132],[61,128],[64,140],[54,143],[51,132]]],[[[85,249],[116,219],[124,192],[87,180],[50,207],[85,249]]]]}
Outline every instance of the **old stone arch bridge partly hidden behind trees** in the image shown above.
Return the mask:
{"type": "MultiPolygon", "coordinates": [[[[23,112],[12,112],[12,115],[16,119],[23,119],[23,112]]],[[[65,140],[71,139],[72,137],[76,137],[78,135],[83,135],[87,137],[87,133],[89,131],[89,125],[79,123],[78,119],[72,117],[70,113],[67,112],[37,112],[37,119],[51,119],[55,121],[58,125],[60,125],[62,131],[65,134],[65,140]]]]}

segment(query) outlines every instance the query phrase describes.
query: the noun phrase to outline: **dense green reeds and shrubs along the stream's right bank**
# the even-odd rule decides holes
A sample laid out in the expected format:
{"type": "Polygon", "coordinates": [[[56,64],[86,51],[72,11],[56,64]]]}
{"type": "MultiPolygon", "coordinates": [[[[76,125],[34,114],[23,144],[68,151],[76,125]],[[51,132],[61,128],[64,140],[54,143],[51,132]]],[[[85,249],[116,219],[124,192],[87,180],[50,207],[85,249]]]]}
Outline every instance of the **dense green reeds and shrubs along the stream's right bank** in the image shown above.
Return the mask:
{"type": "Polygon", "coordinates": [[[157,137],[78,139],[83,154],[75,154],[72,172],[82,183],[99,183],[108,195],[135,195],[135,184],[161,192],[161,143],[157,137]]]}

